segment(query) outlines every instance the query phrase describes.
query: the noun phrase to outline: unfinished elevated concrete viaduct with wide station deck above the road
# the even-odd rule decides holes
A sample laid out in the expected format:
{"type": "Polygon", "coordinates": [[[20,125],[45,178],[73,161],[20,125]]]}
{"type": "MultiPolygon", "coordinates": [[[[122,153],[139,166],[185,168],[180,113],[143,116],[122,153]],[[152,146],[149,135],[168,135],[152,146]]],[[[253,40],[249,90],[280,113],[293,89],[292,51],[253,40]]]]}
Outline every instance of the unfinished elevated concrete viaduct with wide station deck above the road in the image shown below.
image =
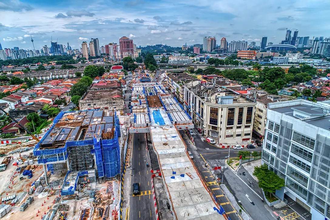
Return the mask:
{"type": "Polygon", "coordinates": [[[162,176],[174,219],[227,219],[189,158],[178,131],[193,128],[191,117],[162,85],[133,84],[132,91],[135,105],[129,132],[150,133],[160,167],[157,175],[162,176]]]}

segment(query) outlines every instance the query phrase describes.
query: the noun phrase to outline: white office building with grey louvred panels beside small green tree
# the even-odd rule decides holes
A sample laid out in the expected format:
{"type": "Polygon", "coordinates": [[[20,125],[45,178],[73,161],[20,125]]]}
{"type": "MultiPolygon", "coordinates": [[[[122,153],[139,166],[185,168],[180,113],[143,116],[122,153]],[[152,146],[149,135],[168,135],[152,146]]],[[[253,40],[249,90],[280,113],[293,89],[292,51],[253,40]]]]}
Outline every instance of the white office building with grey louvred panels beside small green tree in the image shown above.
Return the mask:
{"type": "Polygon", "coordinates": [[[330,219],[330,105],[304,99],[268,104],[262,163],[285,186],[276,191],[312,214],[330,219]]]}

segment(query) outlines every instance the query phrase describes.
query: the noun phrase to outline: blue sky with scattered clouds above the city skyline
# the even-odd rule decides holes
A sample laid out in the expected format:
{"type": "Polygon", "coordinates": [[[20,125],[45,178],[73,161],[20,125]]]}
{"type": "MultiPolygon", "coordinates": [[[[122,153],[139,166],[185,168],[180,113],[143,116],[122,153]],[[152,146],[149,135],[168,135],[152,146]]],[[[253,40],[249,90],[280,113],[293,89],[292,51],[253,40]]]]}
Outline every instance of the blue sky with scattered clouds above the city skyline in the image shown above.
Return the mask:
{"type": "Polygon", "coordinates": [[[329,8],[329,0],[0,0],[0,43],[31,50],[32,35],[36,50],[51,39],[79,49],[90,38],[104,46],[122,36],[142,47],[202,44],[204,36],[277,44],[285,28],[329,37],[329,8]]]}

